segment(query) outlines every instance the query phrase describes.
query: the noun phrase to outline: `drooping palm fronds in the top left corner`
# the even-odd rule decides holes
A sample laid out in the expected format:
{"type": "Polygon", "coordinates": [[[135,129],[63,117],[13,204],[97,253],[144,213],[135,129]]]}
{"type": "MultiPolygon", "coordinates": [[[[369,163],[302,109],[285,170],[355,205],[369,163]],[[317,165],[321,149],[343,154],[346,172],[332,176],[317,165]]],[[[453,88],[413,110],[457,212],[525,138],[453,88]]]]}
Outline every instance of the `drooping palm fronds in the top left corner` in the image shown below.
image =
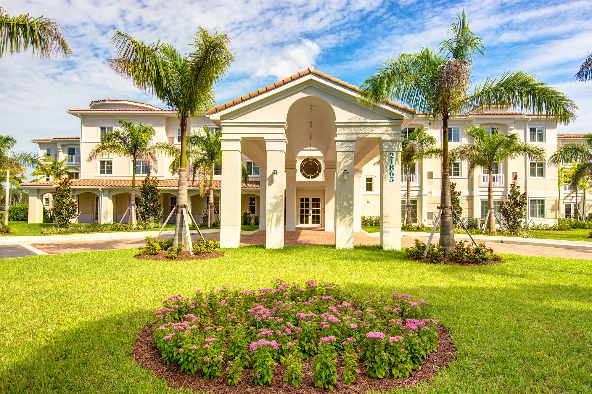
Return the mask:
{"type": "Polygon", "coordinates": [[[62,26],[53,19],[29,14],[11,17],[0,7],[0,57],[27,50],[41,59],[60,53],[70,57],[72,50],[62,33],[62,26]]]}

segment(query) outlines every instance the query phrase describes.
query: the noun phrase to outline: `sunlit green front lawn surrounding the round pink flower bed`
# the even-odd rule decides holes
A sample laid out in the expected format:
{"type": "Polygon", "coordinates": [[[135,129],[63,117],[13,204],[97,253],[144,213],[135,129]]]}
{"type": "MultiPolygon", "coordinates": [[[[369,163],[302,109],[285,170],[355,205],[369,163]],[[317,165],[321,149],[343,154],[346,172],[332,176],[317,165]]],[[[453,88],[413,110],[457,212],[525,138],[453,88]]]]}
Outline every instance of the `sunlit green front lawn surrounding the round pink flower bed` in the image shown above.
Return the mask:
{"type": "Polygon", "coordinates": [[[190,262],[131,259],[135,249],[0,260],[0,392],[178,392],[130,354],[160,301],[275,277],[432,301],[458,353],[429,385],[400,393],[592,390],[592,261],[508,255],[462,267],[376,247],[223,251],[190,262]]]}

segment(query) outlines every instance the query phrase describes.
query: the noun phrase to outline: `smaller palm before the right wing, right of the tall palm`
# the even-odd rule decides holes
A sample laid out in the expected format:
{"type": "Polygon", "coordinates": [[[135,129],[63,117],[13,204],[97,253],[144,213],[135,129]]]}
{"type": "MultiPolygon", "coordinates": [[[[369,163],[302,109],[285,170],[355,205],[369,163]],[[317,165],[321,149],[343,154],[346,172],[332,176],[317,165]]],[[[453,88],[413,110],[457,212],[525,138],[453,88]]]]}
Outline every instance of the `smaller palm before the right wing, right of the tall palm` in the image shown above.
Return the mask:
{"type": "Polygon", "coordinates": [[[465,132],[472,142],[454,148],[451,151],[451,158],[452,160],[458,158],[469,164],[469,177],[472,176],[475,167],[487,169],[487,207],[490,215],[485,223],[485,230],[496,234],[492,176],[494,164],[525,156],[530,159],[545,160],[545,150],[539,146],[521,143],[517,133],[507,135],[501,134],[500,131],[488,133],[484,127],[474,125],[466,127],[465,132]]]}

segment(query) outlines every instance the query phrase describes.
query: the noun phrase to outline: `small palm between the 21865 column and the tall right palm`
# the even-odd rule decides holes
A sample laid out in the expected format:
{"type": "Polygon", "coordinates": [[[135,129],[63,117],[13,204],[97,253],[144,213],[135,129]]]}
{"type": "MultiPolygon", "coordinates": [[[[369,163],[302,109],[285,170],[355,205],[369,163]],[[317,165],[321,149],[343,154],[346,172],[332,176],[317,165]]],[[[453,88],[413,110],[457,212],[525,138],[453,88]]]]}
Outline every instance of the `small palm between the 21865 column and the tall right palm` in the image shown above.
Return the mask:
{"type": "Polygon", "coordinates": [[[423,159],[442,156],[442,148],[434,147],[436,138],[423,131],[423,126],[408,134],[403,140],[401,166],[407,168],[407,203],[405,205],[405,224],[411,224],[411,165],[423,159]]]}

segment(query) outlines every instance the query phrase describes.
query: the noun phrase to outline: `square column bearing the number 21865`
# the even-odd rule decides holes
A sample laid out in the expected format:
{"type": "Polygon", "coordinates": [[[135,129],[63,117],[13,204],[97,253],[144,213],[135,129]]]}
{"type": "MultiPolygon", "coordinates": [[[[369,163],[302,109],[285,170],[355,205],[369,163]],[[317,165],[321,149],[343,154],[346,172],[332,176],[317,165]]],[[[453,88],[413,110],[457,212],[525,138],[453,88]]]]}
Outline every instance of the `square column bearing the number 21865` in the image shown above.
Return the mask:
{"type": "Polygon", "coordinates": [[[401,141],[380,143],[380,244],[401,248],[401,141]]]}

